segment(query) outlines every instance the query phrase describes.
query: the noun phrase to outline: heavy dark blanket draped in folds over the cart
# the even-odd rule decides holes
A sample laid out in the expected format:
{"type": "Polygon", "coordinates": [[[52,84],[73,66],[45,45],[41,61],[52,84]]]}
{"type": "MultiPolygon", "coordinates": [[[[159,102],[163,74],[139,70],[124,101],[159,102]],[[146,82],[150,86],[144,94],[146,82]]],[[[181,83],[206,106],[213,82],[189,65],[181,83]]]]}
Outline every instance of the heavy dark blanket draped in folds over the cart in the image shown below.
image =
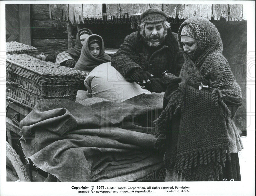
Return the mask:
{"type": "Polygon", "coordinates": [[[60,181],[140,181],[163,167],[153,121],[163,94],[84,106],[40,100],[20,122],[26,158],[60,181]]]}

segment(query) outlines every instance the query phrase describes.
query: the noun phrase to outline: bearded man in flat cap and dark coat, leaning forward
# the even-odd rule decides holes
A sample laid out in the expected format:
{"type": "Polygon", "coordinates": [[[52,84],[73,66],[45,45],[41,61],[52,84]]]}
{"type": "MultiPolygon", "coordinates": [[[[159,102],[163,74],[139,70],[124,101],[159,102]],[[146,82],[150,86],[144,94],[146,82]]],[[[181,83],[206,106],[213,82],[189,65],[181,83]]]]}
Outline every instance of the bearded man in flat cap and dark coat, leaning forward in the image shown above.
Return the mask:
{"type": "Polygon", "coordinates": [[[170,29],[167,14],[148,9],[141,14],[140,30],[126,36],[112,56],[111,65],[126,80],[141,82],[142,88],[166,91],[163,72],[178,76],[184,63],[177,41],[178,35],[170,29]]]}

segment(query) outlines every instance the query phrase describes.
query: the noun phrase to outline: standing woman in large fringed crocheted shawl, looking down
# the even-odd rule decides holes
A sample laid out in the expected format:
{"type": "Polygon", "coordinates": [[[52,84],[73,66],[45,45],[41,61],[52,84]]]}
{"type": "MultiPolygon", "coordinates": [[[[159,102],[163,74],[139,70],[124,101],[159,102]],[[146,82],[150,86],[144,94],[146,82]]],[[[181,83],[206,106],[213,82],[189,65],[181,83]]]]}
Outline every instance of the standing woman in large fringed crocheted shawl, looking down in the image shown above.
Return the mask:
{"type": "Polygon", "coordinates": [[[220,34],[208,20],[192,17],[178,38],[185,63],[179,77],[164,76],[169,85],[155,121],[166,181],[241,180],[237,152],[243,147],[232,118],[242,96],[220,34]]]}

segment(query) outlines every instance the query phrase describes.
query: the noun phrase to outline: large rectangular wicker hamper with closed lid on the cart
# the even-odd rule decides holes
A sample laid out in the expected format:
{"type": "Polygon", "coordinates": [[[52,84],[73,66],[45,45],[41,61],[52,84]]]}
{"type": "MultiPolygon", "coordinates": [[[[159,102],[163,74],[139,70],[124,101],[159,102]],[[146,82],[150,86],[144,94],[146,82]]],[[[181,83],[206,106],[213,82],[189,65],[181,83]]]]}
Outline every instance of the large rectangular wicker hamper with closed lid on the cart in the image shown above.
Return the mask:
{"type": "Polygon", "coordinates": [[[76,101],[81,75],[27,54],[6,55],[6,96],[33,108],[40,99],[76,101]]]}

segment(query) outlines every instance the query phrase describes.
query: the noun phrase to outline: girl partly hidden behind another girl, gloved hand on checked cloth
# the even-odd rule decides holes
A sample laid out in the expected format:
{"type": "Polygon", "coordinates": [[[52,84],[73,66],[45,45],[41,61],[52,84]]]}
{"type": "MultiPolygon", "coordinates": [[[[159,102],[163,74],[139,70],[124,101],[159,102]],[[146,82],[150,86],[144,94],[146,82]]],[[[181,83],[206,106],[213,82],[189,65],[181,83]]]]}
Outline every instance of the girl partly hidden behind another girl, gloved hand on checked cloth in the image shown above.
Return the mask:
{"type": "Polygon", "coordinates": [[[75,47],[59,53],[57,55],[55,63],[58,65],[62,65],[62,66],[66,65],[67,67],[73,68],[77,63],[78,59],[80,58],[82,46],[89,35],[92,35],[91,30],[80,29],[76,35],[77,43],[75,47]]]}

